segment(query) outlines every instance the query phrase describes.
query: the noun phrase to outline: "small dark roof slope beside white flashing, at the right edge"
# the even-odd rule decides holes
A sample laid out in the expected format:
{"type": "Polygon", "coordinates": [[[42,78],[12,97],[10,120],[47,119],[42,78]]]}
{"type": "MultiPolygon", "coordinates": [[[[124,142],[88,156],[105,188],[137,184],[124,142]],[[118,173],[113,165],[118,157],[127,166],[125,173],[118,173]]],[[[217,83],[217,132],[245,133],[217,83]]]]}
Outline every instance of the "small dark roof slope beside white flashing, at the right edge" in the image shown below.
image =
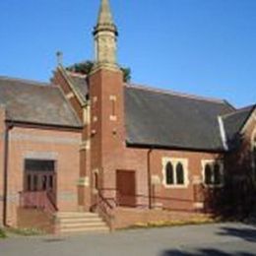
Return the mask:
{"type": "Polygon", "coordinates": [[[255,104],[243,107],[222,117],[224,121],[226,142],[229,148],[235,147],[236,140],[239,139],[239,132],[243,128],[255,107],[255,104]]]}

